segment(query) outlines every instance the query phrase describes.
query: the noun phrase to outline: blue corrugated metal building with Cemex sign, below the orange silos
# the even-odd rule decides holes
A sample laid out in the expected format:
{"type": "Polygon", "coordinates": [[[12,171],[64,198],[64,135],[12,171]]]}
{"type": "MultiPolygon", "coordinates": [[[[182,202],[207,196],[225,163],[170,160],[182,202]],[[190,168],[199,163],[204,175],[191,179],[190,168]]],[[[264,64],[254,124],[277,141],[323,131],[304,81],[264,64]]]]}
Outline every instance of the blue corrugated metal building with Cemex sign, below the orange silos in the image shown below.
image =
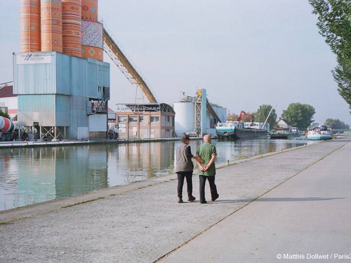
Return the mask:
{"type": "Polygon", "coordinates": [[[56,52],[16,53],[13,60],[21,127],[36,132],[40,139],[86,139],[106,134],[109,63],[56,52]],[[106,125],[98,121],[101,127],[94,127],[92,134],[90,118],[106,118],[106,125]]]}

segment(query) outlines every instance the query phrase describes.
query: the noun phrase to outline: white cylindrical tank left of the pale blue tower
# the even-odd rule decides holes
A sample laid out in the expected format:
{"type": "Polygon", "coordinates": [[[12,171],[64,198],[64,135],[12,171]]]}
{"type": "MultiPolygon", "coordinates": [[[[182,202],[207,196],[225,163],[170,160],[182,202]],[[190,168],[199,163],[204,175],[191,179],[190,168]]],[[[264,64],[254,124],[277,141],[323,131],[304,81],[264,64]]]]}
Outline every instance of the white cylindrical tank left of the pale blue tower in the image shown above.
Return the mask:
{"type": "Polygon", "coordinates": [[[193,131],[195,128],[195,104],[194,102],[175,102],[173,107],[175,116],[176,134],[193,131]]]}

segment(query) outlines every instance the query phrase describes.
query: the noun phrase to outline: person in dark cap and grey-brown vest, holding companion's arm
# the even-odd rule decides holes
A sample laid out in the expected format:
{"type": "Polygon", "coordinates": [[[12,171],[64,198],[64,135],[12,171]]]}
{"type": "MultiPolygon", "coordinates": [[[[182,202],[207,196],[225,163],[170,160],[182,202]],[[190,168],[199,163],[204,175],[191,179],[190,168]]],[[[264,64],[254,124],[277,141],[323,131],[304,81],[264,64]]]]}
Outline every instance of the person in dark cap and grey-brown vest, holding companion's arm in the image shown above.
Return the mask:
{"type": "Polygon", "coordinates": [[[200,157],[194,156],[190,148],[190,137],[188,134],[183,133],[180,136],[182,144],[176,149],[176,174],[178,177],[178,203],[183,203],[183,184],[184,178],[187,181],[188,201],[194,202],[193,196],[193,170],[194,164],[192,159],[197,162],[202,162],[200,157]]]}

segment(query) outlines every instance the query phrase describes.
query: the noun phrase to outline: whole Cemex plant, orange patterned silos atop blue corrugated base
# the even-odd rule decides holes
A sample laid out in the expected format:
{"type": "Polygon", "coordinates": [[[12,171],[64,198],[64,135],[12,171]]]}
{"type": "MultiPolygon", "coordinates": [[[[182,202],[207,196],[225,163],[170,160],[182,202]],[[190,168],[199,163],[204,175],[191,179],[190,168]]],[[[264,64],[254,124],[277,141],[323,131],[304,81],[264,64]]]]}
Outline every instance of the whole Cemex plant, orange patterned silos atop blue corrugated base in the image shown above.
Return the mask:
{"type": "Polygon", "coordinates": [[[107,136],[110,64],[98,0],[21,0],[18,125],[37,139],[107,136]]]}

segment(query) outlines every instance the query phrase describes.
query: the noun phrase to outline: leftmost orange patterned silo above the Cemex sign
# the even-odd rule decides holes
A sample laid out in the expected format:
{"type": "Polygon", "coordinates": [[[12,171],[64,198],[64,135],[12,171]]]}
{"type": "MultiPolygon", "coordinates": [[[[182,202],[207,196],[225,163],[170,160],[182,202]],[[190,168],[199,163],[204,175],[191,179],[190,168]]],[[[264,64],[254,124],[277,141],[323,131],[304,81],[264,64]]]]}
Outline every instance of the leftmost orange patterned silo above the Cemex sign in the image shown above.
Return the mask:
{"type": "Polygon", "coordinates": [[[20,1],[21,52],[39,52],[40,0],[20,1]]]}

